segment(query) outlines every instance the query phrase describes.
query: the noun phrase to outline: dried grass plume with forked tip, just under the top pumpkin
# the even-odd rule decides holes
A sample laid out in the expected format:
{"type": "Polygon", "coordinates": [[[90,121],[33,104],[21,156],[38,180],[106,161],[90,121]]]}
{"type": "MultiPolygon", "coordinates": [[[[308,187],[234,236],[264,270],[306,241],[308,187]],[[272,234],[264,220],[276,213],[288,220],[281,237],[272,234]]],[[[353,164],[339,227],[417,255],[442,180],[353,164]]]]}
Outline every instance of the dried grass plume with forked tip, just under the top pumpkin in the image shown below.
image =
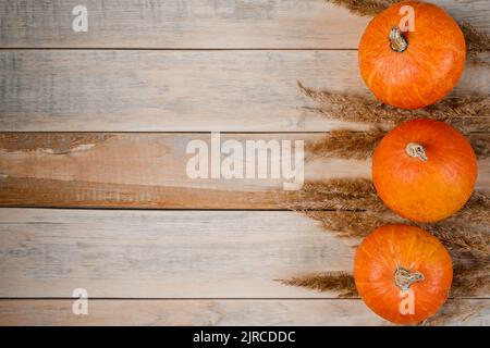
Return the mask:
{"type": "Polygon", "coordinates": [[[299,90],[319,103],[305,107],[329,119],[351,122],[396,125],[401,122],[429,117],[444,121],[464,133],[490,127],[490,96],[465,96],[444,98],[433,105],[418,110],[404,110],[383,104],[372,97],[314,90],[297,83],[299,90]]]}

